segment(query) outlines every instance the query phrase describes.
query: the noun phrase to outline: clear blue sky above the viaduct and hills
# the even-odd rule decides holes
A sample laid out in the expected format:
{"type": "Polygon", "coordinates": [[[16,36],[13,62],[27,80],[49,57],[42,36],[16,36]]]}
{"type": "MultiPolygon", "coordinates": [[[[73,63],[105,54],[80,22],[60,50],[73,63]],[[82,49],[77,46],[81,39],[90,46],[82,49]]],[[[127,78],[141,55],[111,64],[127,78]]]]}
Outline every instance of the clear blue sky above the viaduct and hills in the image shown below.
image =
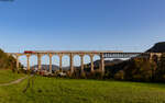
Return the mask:
{"type": "Polygon", "coordinates": [[[0,0],[0,48],[145,52],[165,41],[165,0],[0,0]]]}

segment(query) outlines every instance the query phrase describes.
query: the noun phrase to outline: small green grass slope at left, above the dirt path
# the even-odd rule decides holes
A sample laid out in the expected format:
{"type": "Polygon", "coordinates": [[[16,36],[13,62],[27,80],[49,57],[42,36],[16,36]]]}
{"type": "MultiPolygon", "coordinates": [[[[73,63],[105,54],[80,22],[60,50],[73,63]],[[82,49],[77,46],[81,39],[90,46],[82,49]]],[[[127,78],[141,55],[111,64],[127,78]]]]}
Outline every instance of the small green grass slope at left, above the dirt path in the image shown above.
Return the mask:
{"type": "Polygon", "coordinates": [[[0,70],[0,83],[8,83],[10,81],[16,80],[24,75],[22,73],[13,73],[12,70],[1,69],[0,70]]]}

